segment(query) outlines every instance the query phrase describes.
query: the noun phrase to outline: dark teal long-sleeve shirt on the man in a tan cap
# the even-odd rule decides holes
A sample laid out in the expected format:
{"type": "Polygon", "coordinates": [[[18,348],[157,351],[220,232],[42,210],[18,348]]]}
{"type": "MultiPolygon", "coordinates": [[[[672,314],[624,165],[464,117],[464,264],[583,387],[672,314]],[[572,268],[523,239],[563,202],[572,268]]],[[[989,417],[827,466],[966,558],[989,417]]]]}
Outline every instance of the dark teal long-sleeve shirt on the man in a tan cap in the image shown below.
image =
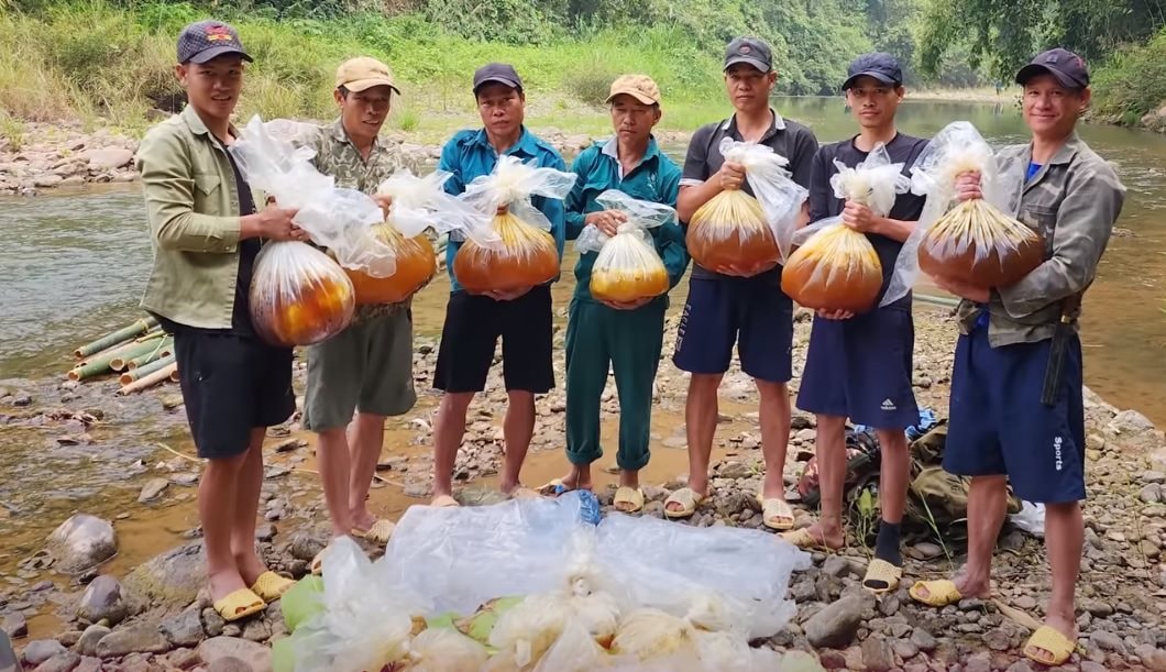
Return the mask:
{"type": "MultiPolygon", "coordinates": [[[[616,153],[616,139],[596,142],[575,158],[571,172],[578,177],[575,188],[567,197],[567,238],[575,240],[583,233],[584,219],[589,212],[603,210],[596,198],[607,189],[618,189],[632,198],[663,203],[676,206],[676,195],[680,192],[681,169],[672,159],[660,152],[655,139],[648,141],[647,152],[640,164],[626,175],[620,175],[621,168],[616,153]]],[[[668,287],[675,287],[688,268],[688,250],[684,247],[684,232],[675,223],[654,226],[648,230],[655,244],[656,252],[668,271],[668,287]]],[[[597,252],[588,252],[580,257],[575,265],[575,298],[593,301],[591,298],[591,268],[595,266],[597,252]]],[[[660,298],[667,301],[667,295],[660,298]]]]}

